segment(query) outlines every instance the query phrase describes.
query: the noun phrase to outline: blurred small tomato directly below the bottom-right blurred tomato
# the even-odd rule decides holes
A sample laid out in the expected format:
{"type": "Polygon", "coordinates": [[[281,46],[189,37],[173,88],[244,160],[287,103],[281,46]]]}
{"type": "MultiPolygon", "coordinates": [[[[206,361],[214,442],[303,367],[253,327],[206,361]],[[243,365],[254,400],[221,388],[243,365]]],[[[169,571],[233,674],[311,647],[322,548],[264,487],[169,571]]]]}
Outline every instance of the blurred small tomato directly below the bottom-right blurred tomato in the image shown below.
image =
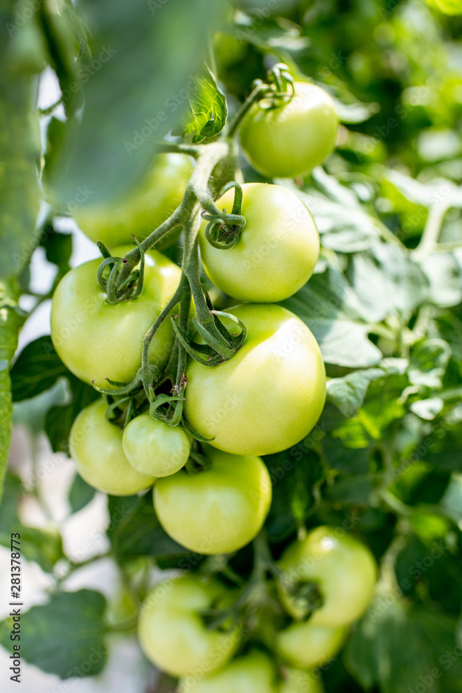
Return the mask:
{"type": "Polygon", "coordinates": [[[294,667],[319,667],[337,655],[346,632],[344,626],[313,626],[310,620],[292,623],[278,633],[278,653],[294,667]]]}

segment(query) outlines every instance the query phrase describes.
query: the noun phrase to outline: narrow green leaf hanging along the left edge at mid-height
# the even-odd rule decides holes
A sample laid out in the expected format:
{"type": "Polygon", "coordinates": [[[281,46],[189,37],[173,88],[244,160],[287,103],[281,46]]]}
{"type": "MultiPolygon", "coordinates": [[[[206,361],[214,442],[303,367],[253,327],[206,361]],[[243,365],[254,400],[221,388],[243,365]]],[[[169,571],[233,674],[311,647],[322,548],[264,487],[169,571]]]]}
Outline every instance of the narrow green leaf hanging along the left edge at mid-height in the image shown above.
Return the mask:
{"type": "Polygon", "coordinates": [[[18,291],[0,282],[0,500],[3,475],[10,448],[12,398],[9,368],[17,347],[17,335],[24,318],[17,305],[18,291]]]}

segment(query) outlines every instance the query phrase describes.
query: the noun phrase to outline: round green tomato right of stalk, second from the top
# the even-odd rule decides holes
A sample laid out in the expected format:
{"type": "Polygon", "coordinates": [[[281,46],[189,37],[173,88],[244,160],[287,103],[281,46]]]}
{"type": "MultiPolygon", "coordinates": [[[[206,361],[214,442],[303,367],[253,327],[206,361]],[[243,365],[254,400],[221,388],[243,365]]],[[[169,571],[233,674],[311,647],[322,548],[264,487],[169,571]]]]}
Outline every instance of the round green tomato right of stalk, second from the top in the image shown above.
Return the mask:
{"type": "MultiPolygon", "coordinates": [[[[219,289],[239,301],[276,303],[292,296],[310,279],[319,256],[314,220],[300,198],[279,185],[242,186],[246,225],[233,248],[218,249],[199,232],[204,270],[219,289]]],[[[231,211],[234,191],[217,207],[231,211]]]]}

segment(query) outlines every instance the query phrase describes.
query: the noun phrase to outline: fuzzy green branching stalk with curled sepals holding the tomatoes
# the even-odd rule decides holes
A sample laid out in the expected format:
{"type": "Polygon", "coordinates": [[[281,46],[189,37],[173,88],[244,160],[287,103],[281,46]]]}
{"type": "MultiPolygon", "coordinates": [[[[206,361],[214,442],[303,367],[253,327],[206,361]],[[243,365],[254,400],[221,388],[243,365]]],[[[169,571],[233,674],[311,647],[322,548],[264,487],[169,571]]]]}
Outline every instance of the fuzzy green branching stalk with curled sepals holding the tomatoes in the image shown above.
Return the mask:
{"type": "MultiPolygon", "coordinates": [[[[187,384],[185,370],[189,354],[202,365],[213,367],[231,358],[245,343],[247,328],[238,317],[230,313],[214,310],[213,304],[200,279],[200,263],[198,250],[198,233],[202,220],[208,221],[206,239],[217,249],[231,249],[238,243],[240,234],[245,228],[246,220],[242,216],[242,188],[233,180],[237,168],[236,143],[233,136],[238,132],[240,122],[247,114],[251,105],[257,101],[274,107],[282,100],[292,98],[294,94],[293,79],[287,71],[287,66],[278,64],[269,72],[269,84],[255,80],[254,89],[249,98],[237,112],[229,125],[224,137],[213,143],[189,145],[162,143],[162,150],[179,152],[196,159],[193,174],[179,206],[157,229],[139,242],[125,257],[114,257],[103,243],[98,247],[103,255],[103,261],[98,268],[97,279],[107,295],[109,304],[119,301],[136,299],[143,291],[144,255],[154,247],[169,231],[182,227],[184,231],[184,249],[181,265],[181,279],[174,295],[145,333],[142,344],[141,367],[131,383],[116,383],[108,380],[112,387],[109,389],[96,387],[105,396],[128,396],[129,412],[132,410],[130,394],[140,386],[143,387],[150,403],[150,415],[155,419],[165,421],[170,426],[177,426],[180,421],[196,439],[206,441],[182,418],[184,393],[187,384]],[[235,188],[233,207],[228,213],[220,210],[208,192],[208,182],[215,168],[221,164],[224,177],[222,193],[235,188]],[[107,271],[109,270],[109,272],[107,271]],[[196,317],[193,317],[195,329],[204,343],[195,342],[188,333],[191,301],[194,302],[196,317]],[[171,315],[172,310],[179,306],[178,315],[171,315]],[[149,348],[152,338],[159,330],[164,320],[172,321],[175,332],[175,346],[172,350],[168,365],[163,371],[157,365],[150,363],[149,348]],[[226,318],[233,324],[231,330],[222,322],[226,318]],[[170,395],[156,396],[155,389],[165,380],[173,384],[170,395]],[[164,405],[168,405],[168,408],[164,405]]],[[[125,398],[124,398],[125,401],[125,398]]],[[[118,399],[118,403],[121,400],[118,399]]],[[[117,404],[114,403],[116,407],[117,404]]],[[[108,416],[112,410],[108,410],[108,416]]],[[[130,420],[127,416],[126,422],[130,420]]]]}

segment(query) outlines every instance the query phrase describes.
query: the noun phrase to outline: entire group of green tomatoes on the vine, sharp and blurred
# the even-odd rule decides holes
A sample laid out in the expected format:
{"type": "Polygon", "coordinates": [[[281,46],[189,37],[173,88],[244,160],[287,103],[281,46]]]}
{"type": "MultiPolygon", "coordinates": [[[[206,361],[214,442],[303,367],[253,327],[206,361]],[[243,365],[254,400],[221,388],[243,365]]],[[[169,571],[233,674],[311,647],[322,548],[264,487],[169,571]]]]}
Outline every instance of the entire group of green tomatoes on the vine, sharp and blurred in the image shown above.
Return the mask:
{"type": "MultiPolygon", "coordinates": [[[[288,98],[276,101],[263,94],[250,105],[242,117],[240,142],[260,174],[298,177],[332,151],[337,128],[330,96],[315,85],[292,82],[288,98]]],[[[123,258],[134,247],[133,236],[143,240],[177,208],[191,172],[190,157],[183,153],[157,155],[126,198],[111,207],[82,208],[75,219],[89,238],[123,258]]],[[[143,337],[181,281],[180,268],[160,252],[177,241],[180,226],[145,252],[143,287],[136,297],[109,302],[97,281],[101,261],[94,260],[64,276],[51,310],[53,344],[66,367],[97,389],[114,387],[113,396],[106,389],[73,423],[69,448],[78,472],[113,495],[153,487],[162,527],[199,554],[236,552],[260,532],[272,500],[261,455],[306,437],[326,394],[316,340],[299,317],[279,305],[314,271],[319,256],[314,220],[283,186],[255,182],[239,187],[245,218],[240,235],[224,249],[211,242],[204,220],[193,244],[196,253],[200,248],[208,279],[238,302],[221,313],[223,330],[237,336],[244,324],[247,337],[231,358],[213,367],[188,358],[178,420],[153,415],[155,394],[147,396],[141,387],[123,396],[118,386],[135,378],[143,337]]],[[[215,201],[217,207],[233,208],[236,194],[236,186],[228,189],[215,201]]],[[[195,315],[194,304],[190,315],[195,315]]],[[[204,344],[200,334],[195,338],[204,344]]],[[[149,343],[149,362],[157,368],[163,393],[168,378],[162,374],[172,372],[168,367],[176,339],[172,320],[166,319],[149,343]]],[[[179,391],[172,378],[170,385],[179,391]]],[[[366,608],[375,562],[345,532],[319,527],[286,550],[275,574],[275,599],[285,612],[274,640],[276,660],[248,645],[245,654],[233,658],[249,640],[232,608],[236,595],[217,579],[193,574],[158,585],[141,606],[139,638],[146,655],[179,677],[184,692],[319,693],[319,676],[312,669],[337,654],[348,624],[366,608]],[[305,597],[313,586],[319,608],[312,613],[305,597]],[[211,628],[206,613],[227,609],[229,617],[211,628]],[[281,667],[284,676],[278,678],[281,667]]]]}

